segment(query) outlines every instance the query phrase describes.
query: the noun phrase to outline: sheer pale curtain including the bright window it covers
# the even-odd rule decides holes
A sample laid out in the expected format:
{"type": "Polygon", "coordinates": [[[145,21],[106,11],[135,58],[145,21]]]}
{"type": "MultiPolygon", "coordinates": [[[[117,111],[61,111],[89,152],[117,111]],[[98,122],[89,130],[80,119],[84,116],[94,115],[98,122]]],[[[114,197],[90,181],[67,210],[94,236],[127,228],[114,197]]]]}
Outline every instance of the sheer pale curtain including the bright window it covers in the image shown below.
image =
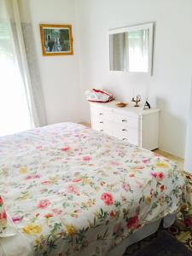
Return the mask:
{"type": "Polygon", "coordinates": [[[35,95],[37,83],[29,70],[23,32],[17,0],[0,0],[0,136],[46,123],[40,86],[35,95]]]}

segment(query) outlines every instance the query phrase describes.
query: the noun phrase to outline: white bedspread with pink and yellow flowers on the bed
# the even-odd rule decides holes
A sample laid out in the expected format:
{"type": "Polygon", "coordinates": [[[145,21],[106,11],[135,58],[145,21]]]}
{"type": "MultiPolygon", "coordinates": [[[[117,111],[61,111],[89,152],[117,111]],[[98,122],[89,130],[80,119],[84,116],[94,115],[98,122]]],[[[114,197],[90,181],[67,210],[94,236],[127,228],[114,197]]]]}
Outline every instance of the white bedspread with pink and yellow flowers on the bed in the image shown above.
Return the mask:
{"type": "Polygon", "coordinates": [[[105,255],[183,189],[174,162],[82,125],[0,137],[0,195],[34,255],[105,255]]]}

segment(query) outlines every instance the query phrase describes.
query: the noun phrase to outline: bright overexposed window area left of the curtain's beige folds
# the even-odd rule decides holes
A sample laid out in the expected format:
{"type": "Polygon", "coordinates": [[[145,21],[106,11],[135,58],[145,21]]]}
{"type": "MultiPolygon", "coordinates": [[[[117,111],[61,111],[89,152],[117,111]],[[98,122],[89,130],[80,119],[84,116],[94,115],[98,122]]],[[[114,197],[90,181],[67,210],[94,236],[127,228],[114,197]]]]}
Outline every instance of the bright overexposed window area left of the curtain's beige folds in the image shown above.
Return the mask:
{"type": "Polygon", "coordinates": [[[0,20],[0,136],[32,128],[10,24],[0,20]]]}

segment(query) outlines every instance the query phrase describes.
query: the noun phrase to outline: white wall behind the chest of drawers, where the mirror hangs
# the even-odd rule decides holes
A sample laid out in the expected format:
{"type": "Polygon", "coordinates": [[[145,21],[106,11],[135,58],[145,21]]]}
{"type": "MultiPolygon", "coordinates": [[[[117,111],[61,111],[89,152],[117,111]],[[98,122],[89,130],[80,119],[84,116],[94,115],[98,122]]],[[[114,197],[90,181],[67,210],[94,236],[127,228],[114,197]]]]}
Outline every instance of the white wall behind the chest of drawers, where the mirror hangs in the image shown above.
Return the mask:
{"type": "MultiPolygon", "coordinates": [[[[183,157],[192,67],[191,0],[76,0],[83,119],[90,120],[84,90],[104,88],[120,100],[133,88],[149,89],[160,114],[160,149],[183,157]],[[110,28],[154,21],[154,75],[110,73],[110,28]]],[[[149,131],[153,129],[148,124],[149,131]]]]}

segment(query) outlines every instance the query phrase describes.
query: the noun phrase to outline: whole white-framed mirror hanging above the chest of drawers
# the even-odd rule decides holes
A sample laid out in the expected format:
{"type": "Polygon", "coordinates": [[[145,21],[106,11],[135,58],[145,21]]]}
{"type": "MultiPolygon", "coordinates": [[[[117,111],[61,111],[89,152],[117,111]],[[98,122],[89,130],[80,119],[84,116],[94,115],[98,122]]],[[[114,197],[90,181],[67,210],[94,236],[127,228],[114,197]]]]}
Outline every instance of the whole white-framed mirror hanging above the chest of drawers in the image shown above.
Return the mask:
{"type": "Polygon", "coordinates": [[[110,71],[152,73],[154,23],[109,30],[110,71]]]}

